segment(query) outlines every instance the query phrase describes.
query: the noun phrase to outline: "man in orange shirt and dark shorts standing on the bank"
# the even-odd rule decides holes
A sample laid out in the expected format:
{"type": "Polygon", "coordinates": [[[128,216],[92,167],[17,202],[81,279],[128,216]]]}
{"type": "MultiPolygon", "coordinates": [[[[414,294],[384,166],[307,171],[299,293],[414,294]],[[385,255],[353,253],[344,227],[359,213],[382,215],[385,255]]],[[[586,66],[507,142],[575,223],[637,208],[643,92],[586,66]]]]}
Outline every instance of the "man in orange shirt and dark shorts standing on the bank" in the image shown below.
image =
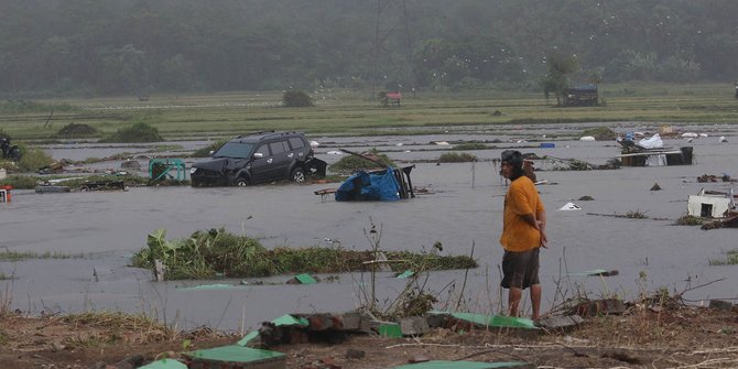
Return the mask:
{"type": "Polygon", "coordinates": [[[547,247],[545,234],[546,213],[533,182],[523,173],[523,155],[519,151],[502,152],[500,174],[510,180],[504,196],[504,214],[500,245],[502,257],[502,282],[509,289],[510,316],[518,316],[518,306],[523,290],[530,287],[531,304],[535,321],[541,310],[541,283],[539,281],[540,247],[547,247]]]}

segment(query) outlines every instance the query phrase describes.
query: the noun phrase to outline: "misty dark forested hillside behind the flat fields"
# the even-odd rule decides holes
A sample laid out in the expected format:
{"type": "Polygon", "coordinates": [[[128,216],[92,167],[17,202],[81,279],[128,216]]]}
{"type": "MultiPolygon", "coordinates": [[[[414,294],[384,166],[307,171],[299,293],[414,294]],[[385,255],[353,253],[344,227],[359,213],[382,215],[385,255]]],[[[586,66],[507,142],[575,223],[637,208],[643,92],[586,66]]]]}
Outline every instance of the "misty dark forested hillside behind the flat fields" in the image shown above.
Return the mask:
{"type": "Polygon", "coordinates": [[[0,97],[731,83],[735,0],[3,0],[0,97]]]}

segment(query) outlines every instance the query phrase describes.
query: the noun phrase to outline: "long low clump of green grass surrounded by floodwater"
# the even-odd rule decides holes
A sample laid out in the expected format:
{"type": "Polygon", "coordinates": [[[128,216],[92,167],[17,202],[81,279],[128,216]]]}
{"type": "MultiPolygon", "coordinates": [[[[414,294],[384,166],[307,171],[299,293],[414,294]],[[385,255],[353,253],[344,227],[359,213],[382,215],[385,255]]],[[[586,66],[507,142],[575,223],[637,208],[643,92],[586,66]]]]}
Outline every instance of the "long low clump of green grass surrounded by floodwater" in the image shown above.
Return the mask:
{"type": "MultiPolygon", "coordinates": [[[[166,231],[150,234],[148,248],[133,254],[132,265],[153,269],[161,260],[167,280],[257,278],[292,273],[341,273],[367,270],[365,261],[373,260],[372,251],[326,247],[267,250],[258,239],[237,236],[225,229],[199,230],[189,238],[166,240],[166,231]]],[[[386,251],[398,270],[424,265],[425,270],[476,268],[469,257],[441,257],[410,251],[386,251]]]]}

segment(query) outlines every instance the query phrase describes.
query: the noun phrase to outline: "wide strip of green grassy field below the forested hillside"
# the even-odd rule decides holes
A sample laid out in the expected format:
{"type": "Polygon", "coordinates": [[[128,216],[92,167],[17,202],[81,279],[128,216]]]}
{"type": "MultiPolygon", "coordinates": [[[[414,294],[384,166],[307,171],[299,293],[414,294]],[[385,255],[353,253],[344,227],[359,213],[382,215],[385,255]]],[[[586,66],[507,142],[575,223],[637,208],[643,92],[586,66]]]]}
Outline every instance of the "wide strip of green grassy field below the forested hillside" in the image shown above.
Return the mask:
{"type": "MultiPolygon", "coordinates": [[[[176,140],[228,138],[243,132],[264,130],[303,131],[319,134],[379,135],[443,133],[455,126],[489,127],[495,124],[588,124],[592,122],[644,121],[680,123],[735,123],[735,98],[725,84],[601,84],[607,106],[561,108],[547,104],[540,91],[491,90],[466,93],[424,93],[408,96],[402,109],[381,109],[367,99],[367,91],[345,90],[310,109],[282,108],[283,91],[237,91],[204,95],[177,95],[181,105],[172,105],[171,96],[152,97],[149,108],[162,107],[155,119],[141,119],[142,109],[131,106],[129,97],[70,99],[78,110],[55,108],[53,122],[88,124],[100,137],[115,133],[131,122],[145,121],[161,135],[176,140]],[[669,95],[663,94],[664,90],[669,95]],[[727,94],[726,94],[727,93],[727,94]],[[243,105],[243,101],[250,101],[243,105]],[[690,107],[680,109],[679,107],[690,107]],[[166,107],[163,109],[163,107],[166,107]],[[705,108],[702,108],[705,107],[705,108]],[[679,113],[675,113],[676,109],[679,113]],[[500,110],[501,116],[491,116],[500,110]]],[[[43,101],[37,112],[8,112],[2,129],[14,140],[43,141],[55,139],[57,129],[39,127],[48,118],[46,109],[57,102],[43,101]]],[[[11,109],[12,110],[12,109],[11,109]]],[[[31,109],[31,110],[35,110],[31,109]]],[[[573,134],[578,133],[572,130],[573,134]]]]}

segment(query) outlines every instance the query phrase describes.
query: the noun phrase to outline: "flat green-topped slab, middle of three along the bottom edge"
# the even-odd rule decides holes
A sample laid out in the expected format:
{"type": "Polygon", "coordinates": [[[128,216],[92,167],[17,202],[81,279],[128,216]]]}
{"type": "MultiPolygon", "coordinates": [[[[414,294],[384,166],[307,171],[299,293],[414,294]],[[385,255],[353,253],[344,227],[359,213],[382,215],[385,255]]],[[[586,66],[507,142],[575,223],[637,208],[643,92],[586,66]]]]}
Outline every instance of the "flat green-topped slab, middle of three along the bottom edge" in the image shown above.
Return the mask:
{"type": "Polygon", "coordinates": [[[189,369],[283,369],[286,368],[286,356],[282,352],[241,347],[237,345],[220,346],[186,352],[189,369]]]}

